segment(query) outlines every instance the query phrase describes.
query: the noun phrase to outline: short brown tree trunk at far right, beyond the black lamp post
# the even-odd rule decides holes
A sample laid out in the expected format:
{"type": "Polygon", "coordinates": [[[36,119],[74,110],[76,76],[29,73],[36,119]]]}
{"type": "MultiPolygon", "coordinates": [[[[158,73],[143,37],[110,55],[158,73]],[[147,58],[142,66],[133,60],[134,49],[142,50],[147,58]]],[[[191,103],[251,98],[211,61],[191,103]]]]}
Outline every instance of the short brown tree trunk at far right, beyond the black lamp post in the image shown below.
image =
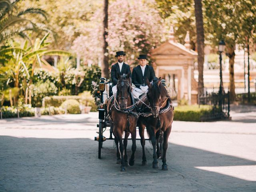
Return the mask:
{"type": "Polygon", "coordinates": [[[234,59],[235,59],[235,46],[227,47],[227,55],[229,58],[229,88],[230,88],[230,102],[234,102],[236,98],[235,93],[235,80],[234,80],[234,59]]]}

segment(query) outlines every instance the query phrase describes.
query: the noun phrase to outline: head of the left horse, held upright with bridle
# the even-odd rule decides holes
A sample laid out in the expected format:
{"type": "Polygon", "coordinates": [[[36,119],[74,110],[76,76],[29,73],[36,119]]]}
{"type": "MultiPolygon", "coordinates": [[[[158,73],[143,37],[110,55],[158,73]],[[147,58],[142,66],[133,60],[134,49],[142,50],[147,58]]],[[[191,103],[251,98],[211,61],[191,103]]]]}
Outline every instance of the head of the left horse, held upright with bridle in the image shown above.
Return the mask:
{"type": "Polygon", "coordinates": [[[122,75],[118,74],[117,78],[118,78],[118,82],[117,82],[116,88],[117,88],[118,104],[120,106],[120,109],[126,109],[127,100],[131,92],[130,73],[122,74],[122,75]]]}

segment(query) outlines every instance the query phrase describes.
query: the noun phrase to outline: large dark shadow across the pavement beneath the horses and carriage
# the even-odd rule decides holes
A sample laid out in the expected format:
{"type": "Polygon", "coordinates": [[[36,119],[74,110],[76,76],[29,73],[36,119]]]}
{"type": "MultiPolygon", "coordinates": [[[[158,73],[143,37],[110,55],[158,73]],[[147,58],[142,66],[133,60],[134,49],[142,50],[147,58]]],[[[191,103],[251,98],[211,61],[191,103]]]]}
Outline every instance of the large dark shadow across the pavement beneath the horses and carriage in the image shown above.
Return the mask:
{"type": "MultiPolygon", "coordinates": [[[[147,166],[141,166],[137,141],[134,166],[120,172],[112,141],[40,139],[0,136],[0,191],[255,191],[256,183],[198,166],[255,165],[234,156],[169,144],[168,171],[152,169],[152,147],[146,143],[147,166]]],[[[128,142],[128,154],[131,153],[128,142]]],[[[160,162],[160,166],[162,162],[160,162]]]]}

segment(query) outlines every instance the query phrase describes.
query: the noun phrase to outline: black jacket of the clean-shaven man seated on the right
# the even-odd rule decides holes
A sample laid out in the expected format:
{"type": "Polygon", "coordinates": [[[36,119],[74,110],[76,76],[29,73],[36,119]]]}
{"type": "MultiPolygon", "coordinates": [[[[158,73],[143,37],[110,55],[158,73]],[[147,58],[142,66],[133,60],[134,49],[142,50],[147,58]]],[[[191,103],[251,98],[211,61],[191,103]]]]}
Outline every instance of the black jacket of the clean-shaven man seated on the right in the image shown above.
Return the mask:
{"type": "Polygon", "coordinates": [[[152,66],[146,65],[144,76],[142,75],[142,70],[140,65],[136,66],[132,70],[132,83],[137,87],[140,88],[140,85],[147,85],[146,77],[149,81],[155,77],[154,68],[152,66]]]}

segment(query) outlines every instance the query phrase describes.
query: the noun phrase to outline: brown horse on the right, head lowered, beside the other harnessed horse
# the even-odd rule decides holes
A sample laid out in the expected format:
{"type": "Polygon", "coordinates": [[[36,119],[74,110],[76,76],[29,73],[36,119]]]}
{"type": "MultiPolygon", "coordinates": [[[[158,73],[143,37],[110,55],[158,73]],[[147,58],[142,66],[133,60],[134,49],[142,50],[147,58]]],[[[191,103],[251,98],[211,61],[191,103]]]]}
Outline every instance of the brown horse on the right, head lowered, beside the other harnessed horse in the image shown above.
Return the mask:
{"type": "Polygon", "coordinates": [[[154,78],[152,83],[147,80],[148,92],[141,98],[141,101],[138,104],[141,113],[138,120],[138,127],[143,153],[142,165],[145,165],[147,161],[144,138],[144,129],[146,127],[153,146],[153,168],[158,168],[157,158],[161,156],[158,139],[161,132],[164,133],[164,141],[162,145],[162,170],[168,170],[168,166],[166,164],[166,151],[168,148],[168,137],[172,129],[173,107],[171,98],[160,80],[161,78],[154,78]]]}

